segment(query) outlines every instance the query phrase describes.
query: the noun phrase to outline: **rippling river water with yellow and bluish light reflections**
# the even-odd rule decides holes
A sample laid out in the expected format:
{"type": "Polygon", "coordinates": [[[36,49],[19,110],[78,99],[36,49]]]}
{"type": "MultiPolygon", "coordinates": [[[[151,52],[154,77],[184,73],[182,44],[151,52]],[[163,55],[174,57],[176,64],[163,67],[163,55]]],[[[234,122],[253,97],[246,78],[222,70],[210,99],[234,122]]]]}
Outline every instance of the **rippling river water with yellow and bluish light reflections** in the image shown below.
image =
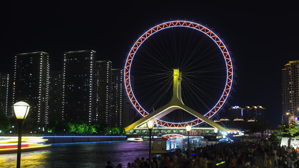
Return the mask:
{"type": "MultiPolygon", "coordinates": [[[[52,144],[44,151],[21,155],[21,167],[105,167],[111,161],[113,167],[136,158],[148,158],[149,142],[89,142],[52,144]]],[[[16,167],[17,155],[0,155],[0,167],[16,167]]]]}

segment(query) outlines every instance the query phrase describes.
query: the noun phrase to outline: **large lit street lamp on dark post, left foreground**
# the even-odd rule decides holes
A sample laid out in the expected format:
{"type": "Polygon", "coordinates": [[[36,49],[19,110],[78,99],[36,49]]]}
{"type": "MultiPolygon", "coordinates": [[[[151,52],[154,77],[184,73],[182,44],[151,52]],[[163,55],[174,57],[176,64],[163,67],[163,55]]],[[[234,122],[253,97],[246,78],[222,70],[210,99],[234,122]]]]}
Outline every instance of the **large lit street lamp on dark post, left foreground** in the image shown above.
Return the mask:
{"type": "Polygon", "coordinates": [[[13,110],[15,112],[18,126],[19,126],[19,133],[18,133],[18,150],[17,150],[17,168],[21,166],[21,147],[22,147],[22,127],[25,121],[25,118],[28,115],[30,106],[24,101],[18,101],[13,104],[13,110]]]}

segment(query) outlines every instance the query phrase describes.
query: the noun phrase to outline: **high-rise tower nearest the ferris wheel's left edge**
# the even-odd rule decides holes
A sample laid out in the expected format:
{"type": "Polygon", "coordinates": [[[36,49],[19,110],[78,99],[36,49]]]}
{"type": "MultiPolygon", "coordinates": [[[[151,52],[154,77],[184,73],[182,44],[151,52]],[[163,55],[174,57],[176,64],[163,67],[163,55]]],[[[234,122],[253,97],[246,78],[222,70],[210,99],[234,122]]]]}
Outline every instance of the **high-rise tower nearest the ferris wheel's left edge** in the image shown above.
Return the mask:
{"type": "Polygon", "coordinates": [[[123,127],[123,69],[112,69],[109,120],[111,127],[123,127]]]}

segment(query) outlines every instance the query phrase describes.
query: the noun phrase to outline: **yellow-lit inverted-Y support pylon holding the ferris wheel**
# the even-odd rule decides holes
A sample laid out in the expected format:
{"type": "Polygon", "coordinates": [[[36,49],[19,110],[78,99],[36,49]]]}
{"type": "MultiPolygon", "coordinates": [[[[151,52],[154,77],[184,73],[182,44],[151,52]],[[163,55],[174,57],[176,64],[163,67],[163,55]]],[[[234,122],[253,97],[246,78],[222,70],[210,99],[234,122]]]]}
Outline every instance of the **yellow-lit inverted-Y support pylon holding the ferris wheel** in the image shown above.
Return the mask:
{"type": "MultiPolygon", "coordinates": [[[[195,110],[191,109],[190,107],[184,105],[182,99],[181,99],[181,73],[179,72],[179,69],[175,68],[173,69],[173,96],[170,102],[165,104],[164,106],[160,107],[159,109],[155,110],[154,112],[144,116],[140,120],[136,121],[135,123],[129,125],[128,127],[125,127],[125,132],[128,132],[129,130],[132,130],[136,127],[141,126],[142,124],[146,123],[149,120],[154,121],[156,124],[158,124],[159,121],[159,116],[163,113],[164,115],[167,115],[168,113],[181,109],[184,110],[198,118],[197,122],[199,121],[204,121],[205,123],[211,125],[212,127],[217,128],[218,130],[221,131],[228,131],[227,128],[222,127],[221,125],[215,123],[214,121],[210,120],[209,118],[203,116],[199,112],[196,112],[195,110]]],[[[187,125],[192,126],[192,124],[196,125],[198,124],[195,121],[192,121],[190,123],[185,123],[184,126],[181,127],[186,127],[187,125]]],[[[175,126],[175,125],[173,125],[175,126]]],[[[167,127],[171,127],[171,125],[168,125],[167,127]]]]}

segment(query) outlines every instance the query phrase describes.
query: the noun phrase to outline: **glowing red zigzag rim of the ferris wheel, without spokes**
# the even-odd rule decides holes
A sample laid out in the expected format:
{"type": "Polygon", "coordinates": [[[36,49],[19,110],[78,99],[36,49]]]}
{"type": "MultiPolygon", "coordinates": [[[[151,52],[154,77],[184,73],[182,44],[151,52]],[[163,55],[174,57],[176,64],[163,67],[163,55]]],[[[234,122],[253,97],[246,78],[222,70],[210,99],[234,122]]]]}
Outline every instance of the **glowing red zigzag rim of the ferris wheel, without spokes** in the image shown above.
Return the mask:
{"type": "MultiPolygon", "coordinates": [[[[203,25],[201,25],[199,23],[196,23],[196,22],[193,22],[193,21],[174,20],[174,21],[162,22],[161,24],[157,24],[154,27],[147,30],[144,34],[142,34],[135,41],[135,43],[133,44],[133,46],[131,47],[131,49],[129,51],[129,54],[126,58],[126,62],[125,62],[125,66],[124,66],[124,84],[126,86],[126,93],[129,97],[129,100],[131,101],[132,105],[135,107],[136,110],[138,110],[138,112],[142,116],[146,116],[146,115],[149,114],[138,103],[138,101],[135,99],[135,95],[133,94],[133,90],[131,88],[131,81],[130,81],[131,63],[132,63],[132,60],[133,60],[133,58],[135,56],[135,53],[137,52],[138,48],[143,44],[144,41],[147,40],[147,38],[149,38],[154,33],[157,33],[161,30],[171,28],[171,27],[188,27],[188,28],[193,28],[195,30],[198,30],[198,31],[204,33],[210,39],[212,39],[214,41],[214,43],[217,44],[217,46],[219,47],[219,49],[222,52],[222,56],[224,57],[224,60],[226,62],[226,64],[225,64],[226,65],[226,70],[227,70],[226,84],[225,84],[225,88],[222,92],[222,96],[219,98],[219,101],[215,104],[215,106],[212,109],[209,110],[209,112],[207,112],[204,115],[204,116],[210,118],[214,114],[216,114],[221,109],[221,107],[225,104],[225,101],[227,100],[228,95],[231,91],[231,87],[232,87],[232,83],[233,83],[232,82],[233,81],[233,62],[232,62],[230,53],[229,53],[227,47],[225,46],[224,42],[221,40],[221,38],[219,36],[217,36],[216,33],[214,33],[212,30],[210,30],[206,26],[203,26],[203,25]]],[[[190,122],[194,123],[196,120],[197,120],[197,124],[200,124],[200,123],[198,123],[198,119],[195,119],[193,121],[188,121],[188,122],[189,123],[190,122]]],[[[166,121],[163,121],[163,122],[168,123],[166,121]]],[[[188,122],[186,122],[186,123],[188,123],[188,122]]],[[[182,124],[182,123],[172,123],[172,124],[182,124]]],[[[196,122],[195,122],[195,124],[196,124],[196,122]]],[[[161,126],[163,126],[163,124],[161,126]]]]}

